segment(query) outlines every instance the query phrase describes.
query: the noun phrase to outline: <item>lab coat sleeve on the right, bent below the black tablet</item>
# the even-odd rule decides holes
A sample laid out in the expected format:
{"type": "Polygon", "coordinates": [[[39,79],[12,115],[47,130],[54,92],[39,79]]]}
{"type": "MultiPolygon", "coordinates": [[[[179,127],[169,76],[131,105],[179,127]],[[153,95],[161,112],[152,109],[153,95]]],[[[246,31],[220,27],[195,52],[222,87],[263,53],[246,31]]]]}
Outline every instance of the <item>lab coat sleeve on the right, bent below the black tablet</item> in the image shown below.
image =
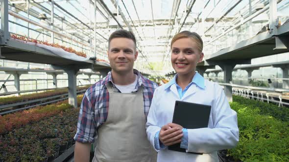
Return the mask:
{"type": "Polygon", "coordinates": [[[230,108],[223,89],[215,86],[215,99],[212,102],[214,128],[188,129],[187,152],[211,153],[233,148],[239,141],[237,113],[230,108]]]}

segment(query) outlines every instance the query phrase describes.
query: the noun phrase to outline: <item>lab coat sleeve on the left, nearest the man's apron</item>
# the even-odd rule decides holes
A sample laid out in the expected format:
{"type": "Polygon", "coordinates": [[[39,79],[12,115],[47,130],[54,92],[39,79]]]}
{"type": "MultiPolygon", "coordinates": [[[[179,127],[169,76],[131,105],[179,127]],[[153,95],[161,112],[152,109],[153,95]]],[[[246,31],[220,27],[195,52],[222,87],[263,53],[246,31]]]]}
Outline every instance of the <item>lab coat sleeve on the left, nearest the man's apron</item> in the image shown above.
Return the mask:
{"type": "Polygon", "coordinates": [[[161,130],[161,127],[158,126],[158,122],[157,122],[158,121],[157,120],[157,113],[158,113],[157,108],[159,107],[158,100],[157,100],[157,97],[158,97],[157,93],[158,93],[158,88],[155,90],[152,101],[151,101],[145,128],[146,128],[148,141],[153,145],[156,151],[159,151],[160,149],[155,147],[156,146],[155,135],[157,132],[161,130]]]}

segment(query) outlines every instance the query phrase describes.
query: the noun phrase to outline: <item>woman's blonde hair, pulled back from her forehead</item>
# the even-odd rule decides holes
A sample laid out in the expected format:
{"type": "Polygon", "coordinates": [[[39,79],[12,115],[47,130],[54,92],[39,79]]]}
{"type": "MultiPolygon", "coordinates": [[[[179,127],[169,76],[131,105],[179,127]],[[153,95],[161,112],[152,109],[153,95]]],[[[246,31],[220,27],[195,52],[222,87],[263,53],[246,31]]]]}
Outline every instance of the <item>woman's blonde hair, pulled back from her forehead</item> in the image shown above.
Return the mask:
{"type": "Polygon", "coordinates": [[[194,41],[196,41],[197,46],[198,46],[198,50],[200,52],[203,51],[203,40],[201,39],[201,37],[195,33],[195,32],[190,32],[190,31],[182,31],[178,34],[176,34],[175,36],[173,36],[171,42],[170,42],[170,48],[172,43],[174,43],[175,41],[179,40],[179,39],[183,39],[183,38],[191,38],[194,41]]]}

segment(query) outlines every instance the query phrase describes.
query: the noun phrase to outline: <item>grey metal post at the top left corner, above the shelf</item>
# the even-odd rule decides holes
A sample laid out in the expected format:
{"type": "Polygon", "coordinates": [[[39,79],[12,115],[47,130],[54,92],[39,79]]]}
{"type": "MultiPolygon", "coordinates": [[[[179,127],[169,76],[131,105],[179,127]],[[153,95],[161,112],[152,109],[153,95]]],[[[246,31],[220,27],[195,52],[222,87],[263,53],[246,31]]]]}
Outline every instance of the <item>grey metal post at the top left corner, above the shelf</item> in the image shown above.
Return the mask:
{"type": "Polygon", "coordinates": [[[1,31],[0,44],[7,44],[10,39],[8,26],[8,0],[1,0],[1,31]]]}

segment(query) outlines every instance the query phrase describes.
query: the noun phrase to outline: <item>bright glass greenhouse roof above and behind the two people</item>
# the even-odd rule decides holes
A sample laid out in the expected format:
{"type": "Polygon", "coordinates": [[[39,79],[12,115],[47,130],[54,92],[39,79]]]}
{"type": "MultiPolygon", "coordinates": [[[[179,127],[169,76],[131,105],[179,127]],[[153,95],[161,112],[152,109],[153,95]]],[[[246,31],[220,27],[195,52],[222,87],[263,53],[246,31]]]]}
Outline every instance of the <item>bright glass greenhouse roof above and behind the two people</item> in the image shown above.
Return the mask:
{"type": "MultiPolygon", "coordinates": [[[[52,7],[49,0],[9,0],[9,9],[28,17],[28,1],[29,19],[41,22],[38,18],[39,14],[45,13],[47,16],[45,21],[51,23],[52,7]]],[[[281,23],[284,23],[289,19],[289,0],[278,0],[278,2],[278,17],[281,23]]],[[[95,55],[96,44],[96,57],[104,60],[107,59],[109,35],[120,28],[131,30],[137,38],[140,51],[136,68],[144,72],[163,73],[172,70],[169,42],[173,35],[183,30],[197,32],[204,41],[205,56],[210,55],[232,43],[256,35],[268,23],[268,19],[258,21],[259,23],[250,21],[211,42],[250,14],[257,12],[260,4],[265,7],[269,5],[269,0],[54,0],[53,28],[72,35],[74,40],[84,42],[87,45],[85,49],[83,47],[81,49],[79,44],[75,45],[73,40],[72,42],[65,40],[70,44],[64,45],[79,47],[87,56],[95,55]],[[251,3],[251,12],[249,3],[251,3]]],[[[269,11],[265,11],[264,14],[268,16],[269,11]]],[[[12,17],[9,17],[9,20],[23,22],[12,17]]],[[[36,25],[29,27],[35,30],[39,28],[36,25]]],[[[11,31],[27,36],[27,29],[24,28],[16,27],[11,31]]],[[[39,34],[29,33],[29,37],[33,39],[39,39],[37,35],[39,34]]],[[[57,35],[55,37],[59,37],[59,40],[63,39],[57,35]]],[[[49,38],[42,39],[49,41],[49,38]]]]}

